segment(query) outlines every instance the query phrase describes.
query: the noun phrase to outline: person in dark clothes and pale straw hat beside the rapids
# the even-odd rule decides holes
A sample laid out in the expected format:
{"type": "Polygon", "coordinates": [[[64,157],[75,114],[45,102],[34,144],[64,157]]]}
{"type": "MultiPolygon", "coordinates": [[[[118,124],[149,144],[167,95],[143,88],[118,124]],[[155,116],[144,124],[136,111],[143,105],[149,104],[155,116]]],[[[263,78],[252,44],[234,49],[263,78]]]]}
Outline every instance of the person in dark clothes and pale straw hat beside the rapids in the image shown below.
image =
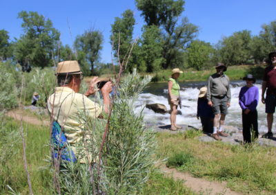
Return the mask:
{"type": "Polygon", "coordinates": [[[199,89],[199,96],[197,99],[197,119],[199,118],[204,133],[213,133],[214,114],[212,108],[208,105],[207,87],[201,87],[199,89]]]}

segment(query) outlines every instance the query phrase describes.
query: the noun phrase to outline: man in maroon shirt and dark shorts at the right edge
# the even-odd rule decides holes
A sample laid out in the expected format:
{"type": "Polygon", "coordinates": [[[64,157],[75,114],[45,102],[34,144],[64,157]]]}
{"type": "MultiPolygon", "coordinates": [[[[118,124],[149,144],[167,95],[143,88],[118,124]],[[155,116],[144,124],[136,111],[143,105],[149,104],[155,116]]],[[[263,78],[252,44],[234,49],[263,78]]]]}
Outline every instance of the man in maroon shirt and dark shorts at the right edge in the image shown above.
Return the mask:
{"type": "Polygon", "coordinates": [[[268,133],[264,137],[273,137],[272,124],[273,113],[275,113],[276,106],[276,51],[268,54],[269,66],[264,69],[264,78],[262,83],[262,102],[266,104],[266,119],[268,123],[268,133]],[[264,98],[266,93],[266,98],[264,98]]]}

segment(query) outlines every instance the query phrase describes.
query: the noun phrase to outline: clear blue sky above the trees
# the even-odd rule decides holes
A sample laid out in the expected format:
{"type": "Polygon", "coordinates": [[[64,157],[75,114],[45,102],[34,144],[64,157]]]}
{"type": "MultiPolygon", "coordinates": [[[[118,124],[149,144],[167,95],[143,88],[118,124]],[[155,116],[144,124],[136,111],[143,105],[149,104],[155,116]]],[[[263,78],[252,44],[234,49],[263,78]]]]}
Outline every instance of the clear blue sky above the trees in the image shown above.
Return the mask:
{"type": "MultiPolygon", "coordinates": [[[[181,17],[199,27],[197,39],[215,45],[233,32],[250,30],[258,35],[263,24],[276,20],[275,0],[186,0],[181,17]]],[[[111,62],[110,31],[115,17],[130,9],[135,16],[133,38],[141,36],[145,24],[135,0],[0,0],[0,30],[9,32],[10,41],[23,34],[22,20],[17,19],[22,10],[38,12],[50,19],[61,32],[61,43],[72,46],[75,37],[85,30],[103,33],[101,62],[111,62]]],[[[180,18],[181,19],[181,18],[180,18]]]]}

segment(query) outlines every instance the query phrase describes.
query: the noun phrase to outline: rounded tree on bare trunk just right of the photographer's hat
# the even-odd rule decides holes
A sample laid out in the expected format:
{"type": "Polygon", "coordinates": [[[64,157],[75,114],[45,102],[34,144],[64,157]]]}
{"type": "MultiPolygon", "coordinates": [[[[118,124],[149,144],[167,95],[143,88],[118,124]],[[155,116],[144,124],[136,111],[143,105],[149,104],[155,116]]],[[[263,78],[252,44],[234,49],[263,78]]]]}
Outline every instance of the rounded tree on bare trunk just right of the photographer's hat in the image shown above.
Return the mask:
{"type": "Polygon", "coordinates": [[[77,36],[75,40],[74,45],[77,49],[78,60],[81,62],[81,58],[84,56],[90,67],[90,75],[95,74],[95,63],[99,61],[102,44],[103,35],[99,30],[87,30],[82,35],[77,36]]]}

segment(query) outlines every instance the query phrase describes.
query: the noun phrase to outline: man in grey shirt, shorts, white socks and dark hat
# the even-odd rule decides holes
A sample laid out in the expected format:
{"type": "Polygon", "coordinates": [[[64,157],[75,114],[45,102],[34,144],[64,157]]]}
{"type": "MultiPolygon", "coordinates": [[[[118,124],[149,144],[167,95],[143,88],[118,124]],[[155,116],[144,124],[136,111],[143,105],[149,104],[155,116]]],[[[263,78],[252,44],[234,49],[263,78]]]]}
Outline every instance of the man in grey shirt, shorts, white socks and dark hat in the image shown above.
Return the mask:
{"type": "Polygon", "coordinates": [[[219,136],[228,136],[227,133],[223,132],[223,127],[231,100],[230,80],[228,76],[224,74],[224,71],[227,70],[226,65],[223,63],[217,63],[215,69],[217,70],[217,73],[214,73],[208,79],[207,100],[208,105],[212,106],[215,115],[213,134],[211,137],[216,140],[221,140],[219,136]],[[219,129],[217,129],[218,126],[219,129]]]}

